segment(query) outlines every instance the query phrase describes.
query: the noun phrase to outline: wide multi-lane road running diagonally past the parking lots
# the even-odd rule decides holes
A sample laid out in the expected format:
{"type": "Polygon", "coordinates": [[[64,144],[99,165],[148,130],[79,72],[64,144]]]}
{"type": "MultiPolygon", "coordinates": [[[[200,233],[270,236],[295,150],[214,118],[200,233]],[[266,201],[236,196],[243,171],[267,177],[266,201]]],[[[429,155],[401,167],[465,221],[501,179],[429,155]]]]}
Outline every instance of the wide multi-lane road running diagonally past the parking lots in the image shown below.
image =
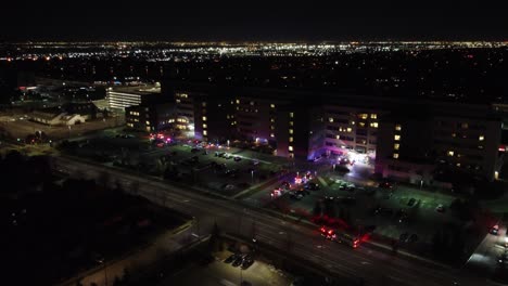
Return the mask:
{"type": "Polygon", "coordinates": [[[365,280],[364,285],[430,286],[453,285],[456,281],[460,285],[493,285],[485,278],[467,271],[431,268],[417,261],[408,261],[367,248],[353,250],[325,240],[317,231],[305,226],[257,210],[245,209],[234,202],[199,195],[190,190],[168,185],[152,178],[135,177],[106,167],[63,157],[55,157],[55,167],[93,179],[107,172],[112,181],[120,183],[129,192],[194,216],[198,221],[195,230],[198,234],[208,233],[216,221],[223,231],[251,235],[255,222],[255,235],[258,239],[279,249],[292,251],[302,259],[318,262],[338,275],[355,278],[361,276],[365,280]]]}

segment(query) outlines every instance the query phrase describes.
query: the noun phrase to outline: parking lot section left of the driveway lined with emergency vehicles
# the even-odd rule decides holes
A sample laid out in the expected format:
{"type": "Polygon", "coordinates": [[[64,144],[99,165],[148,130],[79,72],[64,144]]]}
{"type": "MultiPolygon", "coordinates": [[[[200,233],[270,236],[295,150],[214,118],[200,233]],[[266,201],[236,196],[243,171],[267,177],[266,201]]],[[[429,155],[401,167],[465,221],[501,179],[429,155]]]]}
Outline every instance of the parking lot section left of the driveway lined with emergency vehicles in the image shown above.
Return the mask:
{"type": "Polygon", "coordinates": [[[179,142],[154,144],[145,136],[117,134],[78,141],[73,155],[234,196],[284,172],[283,160],[250,150],[179,142]]]}

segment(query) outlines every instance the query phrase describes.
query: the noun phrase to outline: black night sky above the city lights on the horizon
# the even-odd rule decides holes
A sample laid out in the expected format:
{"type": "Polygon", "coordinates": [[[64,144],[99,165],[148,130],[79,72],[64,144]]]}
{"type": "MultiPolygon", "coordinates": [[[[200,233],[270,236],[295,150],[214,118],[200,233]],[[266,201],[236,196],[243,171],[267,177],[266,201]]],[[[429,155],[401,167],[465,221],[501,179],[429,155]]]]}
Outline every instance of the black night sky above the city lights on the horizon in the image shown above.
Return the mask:
{"type": "Polygon", "coordinates": [[[491,2],[2,1],[0,40],[508,40],[491,2]]]}

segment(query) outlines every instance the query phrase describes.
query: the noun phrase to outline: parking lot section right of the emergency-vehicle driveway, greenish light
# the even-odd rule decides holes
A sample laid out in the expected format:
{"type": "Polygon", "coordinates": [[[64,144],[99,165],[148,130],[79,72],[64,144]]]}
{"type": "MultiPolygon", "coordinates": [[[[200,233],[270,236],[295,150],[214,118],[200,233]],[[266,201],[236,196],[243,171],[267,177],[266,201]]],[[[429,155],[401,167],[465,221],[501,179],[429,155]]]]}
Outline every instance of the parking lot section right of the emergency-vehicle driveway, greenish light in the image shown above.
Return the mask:
{"type": "MultiPolygon", "coordinates": [[[[343,177],[318,176],[310,185],[294,184],[293,181],[291,184],[291,191],[282,192],[280,197],[271,196],[270,188],[259,193],[257,199],[266,202],[263,205],[266,208],[310,218],[317,224],[331,223],[352,232],[370,232],[373,239],[396,243],[397,247],[411,251],[429,251],[437,230],[467,226],[450,210],[455,199],[450,195],[408,186],[358,185],[343,177]],[[319,185],[319,190],[312,190],[313,184],[319,185]]],[[[472,249],[477,242],[472,238],[466,237],[465,240],[471,242],[466,248],[472,249]]]]}

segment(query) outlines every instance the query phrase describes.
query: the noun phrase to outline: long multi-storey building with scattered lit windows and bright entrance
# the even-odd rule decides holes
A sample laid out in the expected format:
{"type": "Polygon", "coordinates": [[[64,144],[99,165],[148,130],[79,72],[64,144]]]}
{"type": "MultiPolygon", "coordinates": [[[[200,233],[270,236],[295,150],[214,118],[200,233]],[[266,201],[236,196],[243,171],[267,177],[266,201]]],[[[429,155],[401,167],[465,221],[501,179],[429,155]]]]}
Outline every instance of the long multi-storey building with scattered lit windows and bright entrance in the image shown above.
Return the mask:
{"type": "Polygon", "coordinates": [[[200,140],[268,144],[289,158],[354,155],[412,183],[430,184],[444,166],[493,179],[498,166],[501,119],[490,106],[192,84],[174,94],[200,140]]]}

